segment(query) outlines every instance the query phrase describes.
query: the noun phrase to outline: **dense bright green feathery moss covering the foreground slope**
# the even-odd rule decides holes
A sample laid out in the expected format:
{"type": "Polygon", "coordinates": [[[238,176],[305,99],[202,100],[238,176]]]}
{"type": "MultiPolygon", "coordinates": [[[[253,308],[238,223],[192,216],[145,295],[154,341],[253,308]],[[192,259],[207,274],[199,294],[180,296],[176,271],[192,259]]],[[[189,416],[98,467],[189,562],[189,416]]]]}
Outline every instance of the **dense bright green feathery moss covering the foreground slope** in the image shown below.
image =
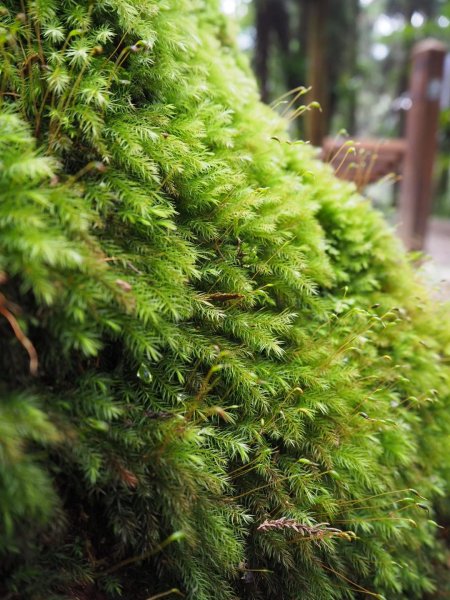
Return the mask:
{"type": "Polygon", "coordinates": [[[0,8],[0,598],[439,597],[445,312],[214,5],[0,8]]]}

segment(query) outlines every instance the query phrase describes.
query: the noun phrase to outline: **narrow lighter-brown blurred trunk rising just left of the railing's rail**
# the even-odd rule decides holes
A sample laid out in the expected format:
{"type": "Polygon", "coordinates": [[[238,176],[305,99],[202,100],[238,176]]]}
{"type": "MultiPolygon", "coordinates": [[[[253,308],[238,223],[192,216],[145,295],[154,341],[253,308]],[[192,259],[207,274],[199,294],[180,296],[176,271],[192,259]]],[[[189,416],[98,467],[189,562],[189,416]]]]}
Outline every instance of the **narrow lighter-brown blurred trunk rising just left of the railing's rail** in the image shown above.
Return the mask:
{"type": "Polygon", "coordinates": [[[308,10],[308,72],[312,100],[319,102],[322,112],[311,109],[306,117],[306,137],[313,146],[321,146],[327,133],[328,69],[327,69],[327,17],[329,0],[309,0],[308,10]]]}

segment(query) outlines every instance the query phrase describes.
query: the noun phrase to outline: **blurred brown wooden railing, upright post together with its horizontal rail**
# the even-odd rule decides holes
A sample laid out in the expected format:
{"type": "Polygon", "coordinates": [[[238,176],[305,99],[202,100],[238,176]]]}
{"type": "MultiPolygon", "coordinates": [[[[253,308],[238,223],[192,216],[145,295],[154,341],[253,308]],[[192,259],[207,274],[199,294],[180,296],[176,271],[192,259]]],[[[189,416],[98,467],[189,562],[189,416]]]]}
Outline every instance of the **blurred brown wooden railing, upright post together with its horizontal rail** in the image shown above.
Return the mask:
{"type": "Polygon", "coordinates": [[[431,213],[445,54],[446,47],[436,40],[424,40],[413,50],[411,108],[403,139],[325,138],[322,146],[322,159],[331,163],[336,175],[354,181],[361,190],[386,176],[401,181],[398,231],[410,250],[423,249],[431,213]]]}

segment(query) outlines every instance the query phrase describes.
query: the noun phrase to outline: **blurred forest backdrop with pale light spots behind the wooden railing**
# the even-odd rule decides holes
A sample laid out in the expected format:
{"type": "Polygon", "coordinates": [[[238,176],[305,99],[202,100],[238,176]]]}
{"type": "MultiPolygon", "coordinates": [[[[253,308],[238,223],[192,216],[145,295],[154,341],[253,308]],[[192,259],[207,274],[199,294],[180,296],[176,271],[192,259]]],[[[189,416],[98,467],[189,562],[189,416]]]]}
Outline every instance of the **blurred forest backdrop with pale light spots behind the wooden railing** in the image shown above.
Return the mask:
{"type": "MultiPolygon", "coordinates": [[[[450,0],[221,2],[223,11],[237,24],[238,43],[250,57],[262,99],[279,112],[286,105],[291,108],[292,135],[318,147],[326,146],[324,140],[329,142],[330,137],[339,143],[405,138],[412,106],[413,48],[421,40],[434,38],[445,44],[446,52],[450,50],[450,0]],[[303,93],[299,86],[312,90],[303,93]],[[289,106],[294,97],[296,104],[289,106]],[[309,105],[314,100],[321,111],[309,105]],[[295,112],[299,104],[304,110],[295,112]]],[[[443,71],[426,249],[439,255],[443,268],[444,263],[450,268],[448,54],[443,71]],[[439,243],[437,237],[442,238],[439,243]]],[[[381,178],[375,185],[369,185],[370,179],[359,187],[392,217],[401,176],[381,178]]]]}

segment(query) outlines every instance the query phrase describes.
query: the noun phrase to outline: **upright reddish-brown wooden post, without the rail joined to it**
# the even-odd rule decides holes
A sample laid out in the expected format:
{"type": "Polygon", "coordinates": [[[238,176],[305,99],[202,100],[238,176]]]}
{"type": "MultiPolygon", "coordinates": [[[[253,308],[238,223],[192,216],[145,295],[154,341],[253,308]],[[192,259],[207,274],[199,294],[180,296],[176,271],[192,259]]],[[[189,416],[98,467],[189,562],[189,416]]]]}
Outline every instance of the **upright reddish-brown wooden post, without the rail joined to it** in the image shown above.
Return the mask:
{"type": "Polygon", "coordinates": [[[406,156],[399,201],[399,233],[408,250],[422,250],[431,212],[439,101],[446,47],[419,42],[412,53],[411,109],[406,120],[406,156]]]}

